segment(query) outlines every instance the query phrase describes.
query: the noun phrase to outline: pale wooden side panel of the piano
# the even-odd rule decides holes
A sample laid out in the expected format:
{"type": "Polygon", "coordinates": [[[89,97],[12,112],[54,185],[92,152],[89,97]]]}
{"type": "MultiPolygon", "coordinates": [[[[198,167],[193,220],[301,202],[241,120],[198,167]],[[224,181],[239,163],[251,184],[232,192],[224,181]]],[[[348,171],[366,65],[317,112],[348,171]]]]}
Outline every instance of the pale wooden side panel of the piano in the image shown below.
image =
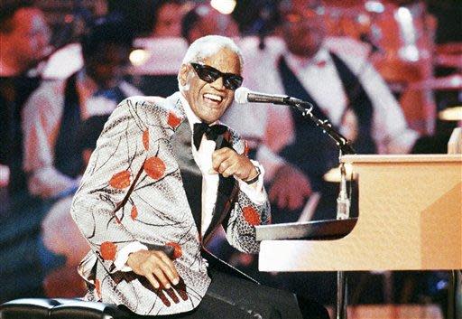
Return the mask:
{"type": "Polygon", "coordinates": [[[359,218],[343,239],[263,240],[262,271],[462,268],[461,155],[347,155],[359,218]]]}

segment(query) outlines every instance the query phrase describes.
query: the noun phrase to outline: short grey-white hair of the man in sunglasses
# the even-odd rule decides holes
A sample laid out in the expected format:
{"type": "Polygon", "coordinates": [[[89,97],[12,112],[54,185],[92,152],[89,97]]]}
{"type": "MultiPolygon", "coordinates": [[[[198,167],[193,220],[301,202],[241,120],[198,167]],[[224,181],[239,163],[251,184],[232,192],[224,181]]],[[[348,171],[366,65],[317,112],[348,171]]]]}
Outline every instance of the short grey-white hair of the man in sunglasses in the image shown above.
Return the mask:
{"type": "MultiPolygon", "coordinates": [[[[191,62],[201,62],[216,54],[220,50],[228,49],[231,52],[235,52],[239,58],[239,64],[241,70],[244,66],[244,59],[241,50],[231,38],[221,35],[206,35],[189,45],[189,49],[184,55],[182,65],[189,64],[191,62]]],[[[180,74],[178,75],[178,87],[180,91],[188,90],[189,86],[182,86],[180,83],[180,74]]]]}

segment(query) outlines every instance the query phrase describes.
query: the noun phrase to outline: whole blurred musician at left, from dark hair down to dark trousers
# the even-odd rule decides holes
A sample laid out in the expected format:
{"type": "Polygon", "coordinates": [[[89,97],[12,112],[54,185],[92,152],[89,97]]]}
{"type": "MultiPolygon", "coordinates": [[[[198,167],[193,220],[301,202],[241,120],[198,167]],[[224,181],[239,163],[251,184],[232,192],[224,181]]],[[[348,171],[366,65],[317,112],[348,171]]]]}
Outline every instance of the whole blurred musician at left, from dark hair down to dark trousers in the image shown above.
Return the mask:
{"type": "Polygon", "coordinates": [[[44,242],[41,223],[44,216],[53,220],[53,204],[77,189],[85,166],[77,143],[79,125],[141,94],[122,78],[132,41],[120,21],[108,17],[97,22],[81,41],[83,69],[65,80],[43,81],[25,102],[23,168],[36,205],[14,208],[14,220],[3,223],[0,297],[44,296],[43,279],[72,260],[73,255],[53,251],[44,242]]]}

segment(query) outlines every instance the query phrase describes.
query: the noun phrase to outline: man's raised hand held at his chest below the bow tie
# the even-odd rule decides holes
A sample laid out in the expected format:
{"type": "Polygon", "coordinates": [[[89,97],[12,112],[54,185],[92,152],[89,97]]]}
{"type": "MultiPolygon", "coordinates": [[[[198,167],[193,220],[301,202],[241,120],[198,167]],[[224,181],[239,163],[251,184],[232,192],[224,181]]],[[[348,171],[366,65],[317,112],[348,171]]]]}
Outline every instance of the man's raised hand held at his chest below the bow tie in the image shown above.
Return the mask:
{"type": "Polygon", "coordinates": [[[239,155],[229,147],[220,148],[212,154],[212,166],[224,177],[235,175],[242,181],[249,181],[258,174],[254,164],[245,155],[239,155]]]}

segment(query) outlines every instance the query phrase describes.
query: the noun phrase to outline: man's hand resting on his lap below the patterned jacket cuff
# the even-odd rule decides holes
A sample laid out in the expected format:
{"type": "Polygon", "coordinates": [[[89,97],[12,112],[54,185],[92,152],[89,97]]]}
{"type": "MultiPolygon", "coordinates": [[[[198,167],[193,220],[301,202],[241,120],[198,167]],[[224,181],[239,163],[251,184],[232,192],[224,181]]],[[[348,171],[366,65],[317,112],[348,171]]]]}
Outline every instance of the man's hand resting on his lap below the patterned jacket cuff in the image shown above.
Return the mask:
{"type": "Polygon", "coordinates": [[[171,259],[162,250],[139,250],[128,256],[126,265],[136,275],[146,277],[151,285],[159,289],[162,284],[166,289],[171,284],[178,285],[180,277],[171,259]]]}

